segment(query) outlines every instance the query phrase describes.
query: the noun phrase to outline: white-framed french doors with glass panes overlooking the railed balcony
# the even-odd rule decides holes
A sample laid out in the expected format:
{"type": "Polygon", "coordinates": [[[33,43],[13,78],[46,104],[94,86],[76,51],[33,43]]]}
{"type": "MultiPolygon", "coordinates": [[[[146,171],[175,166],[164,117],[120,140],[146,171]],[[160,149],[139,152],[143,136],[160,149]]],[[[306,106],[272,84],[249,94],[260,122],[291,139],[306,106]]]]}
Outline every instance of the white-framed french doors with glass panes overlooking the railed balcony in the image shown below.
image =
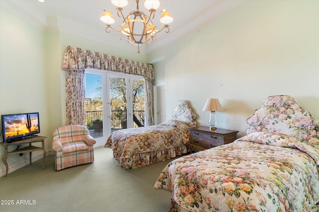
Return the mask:
{"type": "Polygon", "coordinates": [[[85,79],[86,125],[96,146],[114,131],[147,125],[144,77],[87,69],[85,79]]]}

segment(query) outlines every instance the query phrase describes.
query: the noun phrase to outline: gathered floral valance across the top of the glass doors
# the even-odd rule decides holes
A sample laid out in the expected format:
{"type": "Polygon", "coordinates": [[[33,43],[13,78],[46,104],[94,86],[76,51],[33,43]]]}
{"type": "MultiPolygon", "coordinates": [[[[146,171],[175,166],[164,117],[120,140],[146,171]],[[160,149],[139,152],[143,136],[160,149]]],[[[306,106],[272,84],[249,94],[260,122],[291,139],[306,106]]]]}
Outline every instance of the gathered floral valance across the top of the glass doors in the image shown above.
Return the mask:
{"type": "Polygon", "coordinates": [[[146,79],[155,80],[154,69],[150,64],[68,46],[64,53],[62,69],[70,71],[87,68],[140,75],[146,79]]]}

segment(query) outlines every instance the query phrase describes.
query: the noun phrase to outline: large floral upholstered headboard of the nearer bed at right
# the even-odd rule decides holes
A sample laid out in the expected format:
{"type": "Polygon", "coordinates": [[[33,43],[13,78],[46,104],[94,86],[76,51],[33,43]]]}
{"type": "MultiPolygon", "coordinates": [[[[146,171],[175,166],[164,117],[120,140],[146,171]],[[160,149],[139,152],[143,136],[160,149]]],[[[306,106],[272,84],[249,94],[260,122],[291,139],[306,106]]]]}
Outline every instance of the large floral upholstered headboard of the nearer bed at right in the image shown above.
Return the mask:
{"type": "Polygon", "coordinates": [[[247,123],[250,125],[246,130],[247,135],[254,132],[274,132],[302,141],[319,142],[319,121],[289,95],[268,97],[261,108],[247,119],[247,123]]]}

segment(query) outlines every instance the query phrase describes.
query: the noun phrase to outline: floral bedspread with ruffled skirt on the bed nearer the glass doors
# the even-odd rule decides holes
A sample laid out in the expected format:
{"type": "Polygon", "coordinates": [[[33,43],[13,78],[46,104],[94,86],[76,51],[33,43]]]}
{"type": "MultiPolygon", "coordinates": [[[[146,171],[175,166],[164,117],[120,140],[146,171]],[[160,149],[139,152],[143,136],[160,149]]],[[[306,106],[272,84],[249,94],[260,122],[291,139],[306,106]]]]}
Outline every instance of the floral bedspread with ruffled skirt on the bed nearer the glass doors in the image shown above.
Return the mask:
{"type": "Polygon", "coordinates": [[[112,133],[104,147],[113,149],[113,156],[123,168],[137,168],[164,161],[187,152],[189,126],[169,120],[156,126],[131,128],[112,133]]]}

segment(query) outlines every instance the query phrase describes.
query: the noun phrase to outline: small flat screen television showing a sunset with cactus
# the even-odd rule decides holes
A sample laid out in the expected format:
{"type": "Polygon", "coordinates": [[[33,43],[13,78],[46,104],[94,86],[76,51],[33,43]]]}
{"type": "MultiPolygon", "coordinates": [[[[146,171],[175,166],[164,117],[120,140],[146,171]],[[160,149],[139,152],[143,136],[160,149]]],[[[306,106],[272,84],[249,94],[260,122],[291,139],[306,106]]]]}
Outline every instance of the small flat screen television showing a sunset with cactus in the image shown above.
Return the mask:
{"type": "Polygon", "coordinates": [[[40,133],[39,113],[1,115],[4,142],[28,139],[40,133]]]}

